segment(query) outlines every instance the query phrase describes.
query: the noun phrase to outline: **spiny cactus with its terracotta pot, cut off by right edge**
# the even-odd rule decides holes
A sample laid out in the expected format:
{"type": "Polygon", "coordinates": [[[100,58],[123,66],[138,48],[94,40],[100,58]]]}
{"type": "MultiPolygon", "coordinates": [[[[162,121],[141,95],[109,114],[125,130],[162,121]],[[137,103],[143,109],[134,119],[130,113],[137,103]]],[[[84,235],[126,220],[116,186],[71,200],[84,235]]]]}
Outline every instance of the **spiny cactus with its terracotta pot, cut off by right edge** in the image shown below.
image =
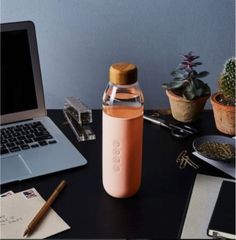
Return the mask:
{"type": "Polygon", "coordinates": [[[235,135],[235,61],[225,62],[218,80],[219,90],[211,96],[216,127],[219,131],[235,135]]]}

